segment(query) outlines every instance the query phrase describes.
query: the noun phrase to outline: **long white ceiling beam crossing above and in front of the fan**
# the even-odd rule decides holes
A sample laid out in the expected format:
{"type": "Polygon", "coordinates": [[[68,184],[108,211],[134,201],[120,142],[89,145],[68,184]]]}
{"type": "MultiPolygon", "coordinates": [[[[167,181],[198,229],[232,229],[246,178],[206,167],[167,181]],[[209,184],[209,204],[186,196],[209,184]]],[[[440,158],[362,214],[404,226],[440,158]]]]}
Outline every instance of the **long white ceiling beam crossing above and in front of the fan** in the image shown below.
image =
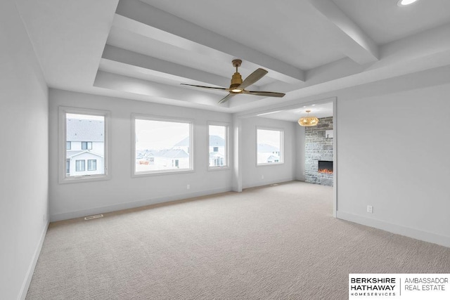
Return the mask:
{"type": "MultiPolygon", "coordinates": [[[[303,70],[293,67],[293,65],[272,58],[255,49],[248,48],[243,44],[239,44],[139,0],[120,1],[116,13],[158,30],[157,34],[153,30],[153,39],[164,39],[167,44],[173,44],[175,41],[178,46],[182,44],[182,46],[191,50],[198,49],[199,45],[206,46],[215,51],[227,53],[233,58],[240,58],[246,62],[260,65],[268,69],[271,77],[275,79],[291,84],[304,81],[303,70]],[[174,37],[178,37],[178,39],[174,39],[174,37]]],[[[115,20],[115,25],[117,22],[115,20]]]]}

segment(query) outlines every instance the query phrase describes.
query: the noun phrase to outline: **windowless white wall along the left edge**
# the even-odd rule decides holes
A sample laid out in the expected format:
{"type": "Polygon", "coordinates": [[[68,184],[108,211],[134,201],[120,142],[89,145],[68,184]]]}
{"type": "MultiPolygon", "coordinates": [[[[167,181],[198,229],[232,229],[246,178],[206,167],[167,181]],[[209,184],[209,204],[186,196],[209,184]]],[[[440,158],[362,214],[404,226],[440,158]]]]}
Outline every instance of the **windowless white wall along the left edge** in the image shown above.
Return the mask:
{"type": "Polygon", "coordinates": [[[15,1],[0,1],[0,299],[24,298],[48,208],[48,89],[15,1]]]}

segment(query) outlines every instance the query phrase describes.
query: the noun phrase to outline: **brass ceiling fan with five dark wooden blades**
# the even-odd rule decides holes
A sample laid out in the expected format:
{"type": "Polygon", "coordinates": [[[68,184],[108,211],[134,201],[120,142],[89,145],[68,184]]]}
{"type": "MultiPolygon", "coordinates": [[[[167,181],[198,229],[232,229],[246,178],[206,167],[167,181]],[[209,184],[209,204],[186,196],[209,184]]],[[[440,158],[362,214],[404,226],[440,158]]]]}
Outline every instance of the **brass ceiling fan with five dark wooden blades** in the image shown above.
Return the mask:
{"type": "Polygon", "coordinates": [[[262,77],[264,77],[264,75],[267,74],[268,72],[264,69],[259,68],[252,74],[248,75],[248,77],[245,78],[243,81],[242,77],[240,76],[240,74],[238,72],[238,67],[240,67],[241,64],[242,64],[242,60],[238,60],[238,59],[233,60],[233,67],[236,67],[236,73],[234,73],[233,77],[231,77],[231,84],[228,89],[216,88],[213,86],[196,86],[194,84],[181,84],[181,85],[195,86],[195,87],[203,88],[203,89],[217,89],[217,90],[222,90],[222,91],[228,91],[229,94],[226,95],[224,98],[222,98],[219,101],[219,103],[224,103],[224,102],[228,101],[231,97],[233,97],[239,93],[245,93],[245,94],[256,95],[256,96],[266,96],[266,97],[283,97],[283,96],[285,96],[285,93],[276,93],[273,91],[247,91],[247,90],[245,90],[245,88],[247,86],[254,84],[259,79],[262,79],[262,77]]]}

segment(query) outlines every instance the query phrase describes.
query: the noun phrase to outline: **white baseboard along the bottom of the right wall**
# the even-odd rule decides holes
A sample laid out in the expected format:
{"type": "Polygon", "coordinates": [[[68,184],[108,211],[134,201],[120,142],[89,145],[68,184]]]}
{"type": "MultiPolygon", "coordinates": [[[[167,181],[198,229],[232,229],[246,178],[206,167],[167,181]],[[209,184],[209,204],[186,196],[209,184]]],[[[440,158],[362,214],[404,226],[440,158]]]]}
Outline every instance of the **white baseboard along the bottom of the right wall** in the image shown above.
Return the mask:
{"type": "Polygon", "coordinates": [[[377,219],[370,219],[364,216],[358,216],[355,214],[349,214],[346,212],[338,211],[336,214],[338,219],[359,223],[365,226],[378,228],[381,230],[389,231],[390,233],[396,233],[397,235],[404,235],[406,237],[412,237],[416,240],[423,240],[425,242],[432,242],[444,247],[450,247],[450,237],[445,235],[437,235],[435,233],[428,233],[423,230],[418,230],[406,226],[388,223],[377,219]]]}

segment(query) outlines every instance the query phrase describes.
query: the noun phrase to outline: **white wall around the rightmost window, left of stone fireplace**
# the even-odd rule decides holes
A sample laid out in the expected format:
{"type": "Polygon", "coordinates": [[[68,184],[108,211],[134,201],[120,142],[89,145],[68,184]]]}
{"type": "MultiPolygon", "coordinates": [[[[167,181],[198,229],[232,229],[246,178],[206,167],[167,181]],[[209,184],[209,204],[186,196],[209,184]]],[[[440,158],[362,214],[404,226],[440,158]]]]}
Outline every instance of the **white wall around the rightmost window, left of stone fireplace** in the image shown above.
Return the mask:
{"type": "MultiPolygon", "coordinates": [[[[240,155],[242,160],[243,188],[250,188],[270,183],[280,183],[295,179],[295,125],[294,122],[278,121],[263,117],[242,119],[242,136],[240,155]],[[257,127],[283,129],[284,157],[283,164],[256,165],[256,130],[257,127]],[[262,178],[264,176],[264,178],[262,178]]],[[[298,126],[298,125],[297,125],[298,126]]]]}

